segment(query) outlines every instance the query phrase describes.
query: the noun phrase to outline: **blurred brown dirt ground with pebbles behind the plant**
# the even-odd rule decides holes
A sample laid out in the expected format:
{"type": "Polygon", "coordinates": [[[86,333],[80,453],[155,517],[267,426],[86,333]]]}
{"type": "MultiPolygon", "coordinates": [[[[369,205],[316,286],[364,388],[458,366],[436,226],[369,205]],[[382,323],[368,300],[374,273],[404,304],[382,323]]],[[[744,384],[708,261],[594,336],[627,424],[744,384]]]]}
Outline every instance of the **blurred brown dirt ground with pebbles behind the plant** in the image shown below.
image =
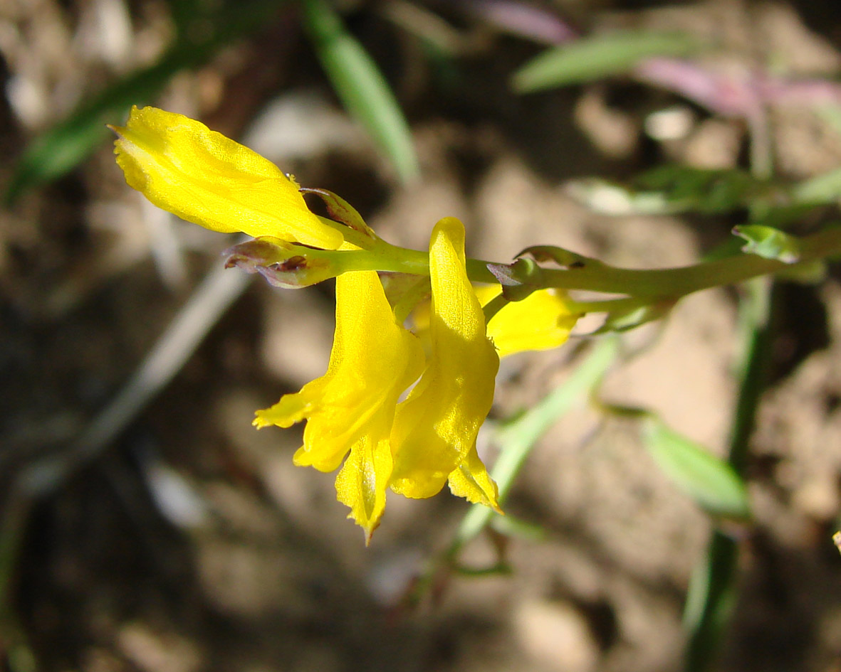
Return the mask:
{"type": "MultiPolygon", "coordinates": [[[[438,218],[453,215],[468,228],[468,254],[483,259],[507,261],[543,243],[616,265],[681,265],[740,221],[597,214],[567,188],[667,160],[745,165],[738,118],[627,78],[516,96],[510,73],[542,47],[463,9],[473,3],[420,3],[463,39],[454,69],[426,58],[399,27],[392,6],[405,3],[348,4],[348,24],[410,119],[422,170],[415,185],[398,186],[341,112],[292,11],[140,102],[244,139],[300,183],[345,197],[383,238],[418,249],[438,218]],[[674,108],[688,119],[684,132],[653,139],[647,120],[674,108]]],[[[0,186],[11,176],[8,157],[29,139],[160,52],[169,5],[129,5],[0,3],[0,186]]],[[[534,6],[585,29],[716,36],[726,49],[713,62],[724,69],[841,71],[833,0],[534,6]]],[[[781,177],[838,166],[841,131],[828,118],[787,107],[771,108],[770,118],[781,177]]],[[[0,212],[3,529],[26,465],[61,454],[89,427],[230,244],[125,186],[108,140],[0,212]]],[[[733,623],[717,666],[725,672],[841,672],[841,556],[831,541],[841,512],[839,278],[836,267],[819,286],[782,283],[777,292],[772,384],[748,469],[756,524],[740,543],[733,623]]],[[[506,507],[542,538],[507,541],[510,574],[452,576],[405,606],[465,502],[447,492],[391,496],[366,549],[333,477],[292,465],[299,430],[251,428],[255,409],[323,372],[332,311],[329,286],[278,291],[251,281],[107,449],[35,502],[14,566],[0,563],[12,587],[0,643],[25,633],[38,667],[9,659],[8,669],[679,669],[685,591],[711,525],[656,469],[633,423],[605,421],[584,400],[542,438],[506,507]]],[[[611,370],[605,396],[656,410],[722,454],[736,393],[736,291],[689,297],[625,345],[635,354],[611,370]]],[[[574,339],[505,360],[492,422],[542,398],[587,348],[574,339]]],[[[492,461],[493,444],[486,450],[492,461]]],[[[465,563],[491,562],[494,541],[473,542],[465,563]]]]}

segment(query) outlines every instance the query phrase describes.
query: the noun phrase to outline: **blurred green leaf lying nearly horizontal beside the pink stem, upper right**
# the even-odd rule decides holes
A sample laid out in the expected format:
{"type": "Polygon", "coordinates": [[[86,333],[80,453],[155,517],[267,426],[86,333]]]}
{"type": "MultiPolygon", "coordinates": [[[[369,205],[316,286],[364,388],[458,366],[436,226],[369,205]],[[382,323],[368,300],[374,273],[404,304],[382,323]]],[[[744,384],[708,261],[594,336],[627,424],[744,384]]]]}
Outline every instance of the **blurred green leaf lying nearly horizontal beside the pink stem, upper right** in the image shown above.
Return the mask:
{"type": "Polygon", "coordinates": [[[627,72],[650,56],[689,55],[701,43],[682,33],[616,33],[577,39],[544,51],[514,73],[518,93],[579,84],[627,72]]]}

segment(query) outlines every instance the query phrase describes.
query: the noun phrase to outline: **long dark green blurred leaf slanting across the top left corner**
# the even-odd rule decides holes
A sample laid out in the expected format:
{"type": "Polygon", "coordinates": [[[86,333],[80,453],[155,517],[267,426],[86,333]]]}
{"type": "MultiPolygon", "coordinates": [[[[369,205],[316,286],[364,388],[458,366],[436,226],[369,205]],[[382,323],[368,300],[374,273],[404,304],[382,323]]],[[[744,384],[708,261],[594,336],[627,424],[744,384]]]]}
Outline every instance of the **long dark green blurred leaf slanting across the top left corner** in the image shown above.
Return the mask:
{"type": "Polygon", "coordinates": [[[231,3],[212,14],[193,17],[193,26],[153,66],[114,82],[64,121],[34,139],[9,181],[5,200],[14,202],[27,189],[65,175],[108,136],[105,123],[118,123],[134,104],[150,100],[178,71],[199,66],[220,46],[265,25],[285,0],[231,3]],[[192,35],[192,38],[189,37],[192,35]]]}

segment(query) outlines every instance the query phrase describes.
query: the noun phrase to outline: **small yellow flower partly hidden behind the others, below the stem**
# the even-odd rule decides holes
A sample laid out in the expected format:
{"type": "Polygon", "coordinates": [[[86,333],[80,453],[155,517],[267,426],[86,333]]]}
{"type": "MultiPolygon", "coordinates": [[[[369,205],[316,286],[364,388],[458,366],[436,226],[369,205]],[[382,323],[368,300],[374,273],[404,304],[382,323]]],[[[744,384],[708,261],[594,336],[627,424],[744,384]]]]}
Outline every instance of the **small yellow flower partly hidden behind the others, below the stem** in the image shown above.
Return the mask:
{"type": "MultiPolygon", "coordinates": [[[[501,288],[494,296],[500,291],[501,288]]],[[[572,312],[563,291],[533,291],[522,301],[506,303],[490,318],[488,338],[494,342],[500,358],[526,350],[553,349],[566,343],[579,317],[580,313],[572,312]]]]}

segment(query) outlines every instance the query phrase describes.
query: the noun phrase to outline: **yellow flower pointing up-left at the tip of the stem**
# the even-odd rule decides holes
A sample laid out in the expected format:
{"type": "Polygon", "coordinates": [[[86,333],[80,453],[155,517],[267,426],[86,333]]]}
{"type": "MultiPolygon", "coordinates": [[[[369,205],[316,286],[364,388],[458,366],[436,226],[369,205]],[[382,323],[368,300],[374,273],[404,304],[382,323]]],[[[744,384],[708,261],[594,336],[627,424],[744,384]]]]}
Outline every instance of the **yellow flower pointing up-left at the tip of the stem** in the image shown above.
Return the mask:
{"type": "Polygon", "coordinates": [[[158,108],[131,108],[112,127],[129,186],[188,222],[337,249],[339,230],[309,212],[298,186],[257,152],[204,123],[158,108]]]}

